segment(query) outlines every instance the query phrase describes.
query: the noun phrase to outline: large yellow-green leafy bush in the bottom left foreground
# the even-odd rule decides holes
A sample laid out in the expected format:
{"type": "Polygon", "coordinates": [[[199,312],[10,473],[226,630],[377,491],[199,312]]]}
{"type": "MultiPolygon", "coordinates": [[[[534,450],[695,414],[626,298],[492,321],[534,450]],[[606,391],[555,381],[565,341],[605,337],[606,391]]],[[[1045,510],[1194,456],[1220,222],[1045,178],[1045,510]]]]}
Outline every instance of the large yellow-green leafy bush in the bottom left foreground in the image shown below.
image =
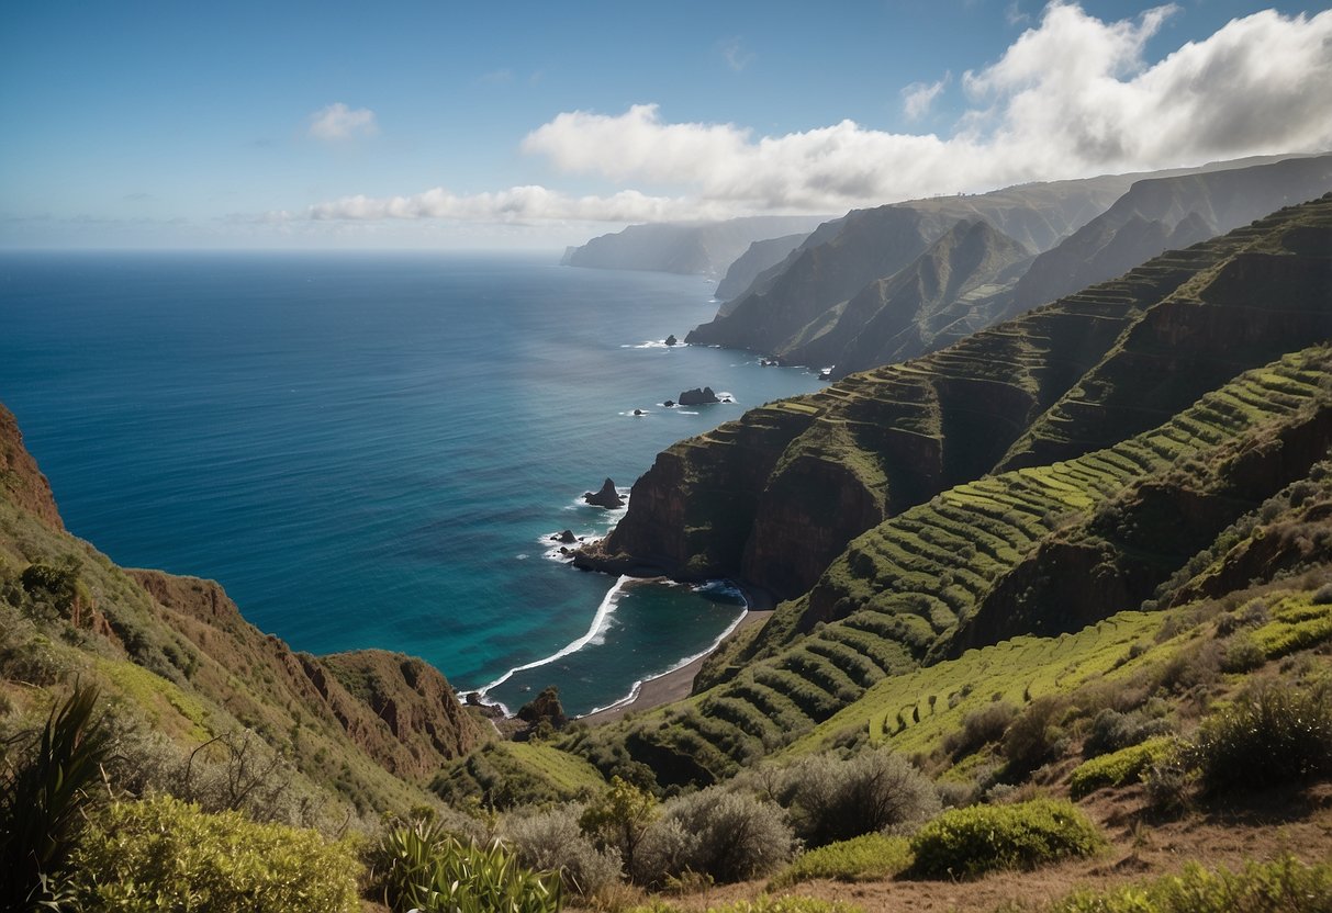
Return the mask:
{"type": "Polygon", "coordinates": [[[124,913],[356,913],[360,870],[346,842],[168,796],[112,805],[76,856],[85,904],[124,913]]]}

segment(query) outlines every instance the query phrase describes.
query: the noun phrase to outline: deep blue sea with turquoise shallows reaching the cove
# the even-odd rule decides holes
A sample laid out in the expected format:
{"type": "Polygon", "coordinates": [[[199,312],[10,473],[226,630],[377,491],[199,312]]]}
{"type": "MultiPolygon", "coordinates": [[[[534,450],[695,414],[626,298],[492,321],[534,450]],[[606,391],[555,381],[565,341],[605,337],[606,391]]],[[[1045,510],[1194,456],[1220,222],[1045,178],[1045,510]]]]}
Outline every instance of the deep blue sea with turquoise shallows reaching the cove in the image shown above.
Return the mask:
{"type": "Polygon", "coordinates": [[[460,689],[542,663],[490,696],[557,684],[582,713],[741,610],[579,572],[547,536],[603,534],[585,490],[818,386],[665,347],[711,287],[553,256],[5,253],[0,401],[67,526],[117,563],[220,580],[297,649],[404,651],[460,689]],[[737,405],[659,406],[702,385],[737,405]]]}

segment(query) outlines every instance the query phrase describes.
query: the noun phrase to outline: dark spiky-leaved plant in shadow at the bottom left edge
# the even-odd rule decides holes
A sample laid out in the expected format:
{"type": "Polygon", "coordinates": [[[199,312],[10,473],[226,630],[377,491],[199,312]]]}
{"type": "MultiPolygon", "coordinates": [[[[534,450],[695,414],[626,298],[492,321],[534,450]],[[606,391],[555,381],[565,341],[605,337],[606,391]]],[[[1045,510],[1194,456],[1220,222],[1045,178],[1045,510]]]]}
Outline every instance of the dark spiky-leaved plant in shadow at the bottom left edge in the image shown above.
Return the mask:
{"type": "Polygon", "coordinates": [[[0,771],[0,908],[59,910],[73,898],[64,868],[109,751],[97,688],[75,692],[47,719],[35,752],[0,771]]]}

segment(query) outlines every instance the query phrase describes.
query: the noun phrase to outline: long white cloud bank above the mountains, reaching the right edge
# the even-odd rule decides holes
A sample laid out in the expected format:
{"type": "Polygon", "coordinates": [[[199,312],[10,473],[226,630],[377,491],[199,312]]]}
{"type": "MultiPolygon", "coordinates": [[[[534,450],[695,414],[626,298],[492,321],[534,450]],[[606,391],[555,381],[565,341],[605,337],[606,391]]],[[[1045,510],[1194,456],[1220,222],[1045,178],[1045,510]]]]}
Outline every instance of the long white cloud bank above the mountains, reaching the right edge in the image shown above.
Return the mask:
{"type": "MultiPolygon", "coordinates": [[[[1332,85],[1332,11],[1259,12],[1148,63],[1148,40],[1177,15],[1166,5],[1103,21],[1072,3],[1051,3],[996,61],[963,75],[968,109],[947,136],[848,120],[757,136],[735,124],[670,122],[651,104],[619,114],[573,110],[529,133],[523,152],[569,174],[639,189],[582,198],[545,188],[473,197],[432,190],[353,197],[361,202],[310,214],[507,218],[521,210],[542,218],[549,210],[582,213],[558,218],[646,221],[835,213],[1020,181],[1332,148],[1332,92],[1316,91],[1332,85]]],[[[946,81],[907,87],[907,113],[924,113],[946,81]]]]}

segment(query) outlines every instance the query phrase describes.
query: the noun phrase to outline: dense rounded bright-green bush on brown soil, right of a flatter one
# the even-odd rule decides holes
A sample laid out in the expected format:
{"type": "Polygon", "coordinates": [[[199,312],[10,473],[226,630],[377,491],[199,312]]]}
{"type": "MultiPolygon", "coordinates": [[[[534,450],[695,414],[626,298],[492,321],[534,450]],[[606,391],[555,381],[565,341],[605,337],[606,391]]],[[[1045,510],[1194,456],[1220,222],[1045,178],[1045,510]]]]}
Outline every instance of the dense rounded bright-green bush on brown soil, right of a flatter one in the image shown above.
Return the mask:
{"type": "Polygon", "coordinates": [[[972,805],[944,812],[916,832],[912,873],[974,878],[992,869],[1034,869],[1091,856],[1104,842],[1096,826],[1066,801],[972,805]]]}

